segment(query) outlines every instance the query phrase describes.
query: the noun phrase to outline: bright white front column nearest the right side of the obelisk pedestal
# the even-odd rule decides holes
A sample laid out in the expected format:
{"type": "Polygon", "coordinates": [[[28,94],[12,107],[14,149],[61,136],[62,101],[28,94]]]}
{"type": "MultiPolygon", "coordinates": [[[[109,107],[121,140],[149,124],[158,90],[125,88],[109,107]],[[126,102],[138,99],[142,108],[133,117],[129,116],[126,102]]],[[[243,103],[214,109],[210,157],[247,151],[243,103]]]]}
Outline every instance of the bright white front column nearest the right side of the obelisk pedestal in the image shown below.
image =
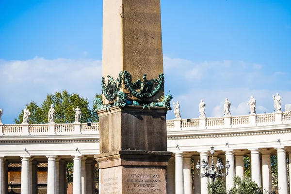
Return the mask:
{"type": "Polygon", "coordinates": [[[183,153],[175,153],[175,193],[184,194],[183,153]]]}

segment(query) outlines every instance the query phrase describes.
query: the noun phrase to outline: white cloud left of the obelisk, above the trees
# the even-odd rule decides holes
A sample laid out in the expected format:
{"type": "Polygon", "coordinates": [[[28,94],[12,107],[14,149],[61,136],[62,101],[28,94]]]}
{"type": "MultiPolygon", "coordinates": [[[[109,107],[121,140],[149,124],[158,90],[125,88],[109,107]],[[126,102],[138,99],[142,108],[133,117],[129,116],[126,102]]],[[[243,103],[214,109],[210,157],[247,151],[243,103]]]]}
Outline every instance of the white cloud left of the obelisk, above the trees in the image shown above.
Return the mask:
{"type": "MultiPolygon", "coordinates": [[[[16,117],[31,100],[41,104],[47,93],[77,92],[89,102],[101,92],[101,60],[0,60],[0,106],[6,116],[16,117]]],[[[9,119],[12,122],[12,119],[9,119]]]]}

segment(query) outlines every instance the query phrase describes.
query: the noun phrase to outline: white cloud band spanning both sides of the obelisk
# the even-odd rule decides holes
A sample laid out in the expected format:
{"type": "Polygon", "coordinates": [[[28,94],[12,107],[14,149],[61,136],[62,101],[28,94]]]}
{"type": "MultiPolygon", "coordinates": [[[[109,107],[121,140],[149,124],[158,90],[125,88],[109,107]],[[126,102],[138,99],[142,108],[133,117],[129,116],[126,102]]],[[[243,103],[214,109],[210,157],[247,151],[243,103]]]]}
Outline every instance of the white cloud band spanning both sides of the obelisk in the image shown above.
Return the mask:
{"type": "MultiPolygon", "coordinates": [[[[41,104],[47,93],[68,90],[88,98],[101,92],[101,60],[0,60],[0,108],[5,123],[13,122],[31,100],[41,104]],[[8,119],[9,118],[9,119],[8,119]]],[[[257,100],[257,112],[273,112],[276,92],[284,104],[291,104],[291,78],[281,72],[267,72],[259,63],[245,61],[202,61],[164,57],[165,91],[171,90],[174,101],[180,101],[182,118],[199,117],[198,104],[204,99],[208,117],[223,116],[227,97],[232,115],[248,114],[246,104],[251,95],[257,100]],[[283,90],[282,90],[283,89],[283,90]]],[[[173,111],[168,112],[173,119],[173,111]]]]}

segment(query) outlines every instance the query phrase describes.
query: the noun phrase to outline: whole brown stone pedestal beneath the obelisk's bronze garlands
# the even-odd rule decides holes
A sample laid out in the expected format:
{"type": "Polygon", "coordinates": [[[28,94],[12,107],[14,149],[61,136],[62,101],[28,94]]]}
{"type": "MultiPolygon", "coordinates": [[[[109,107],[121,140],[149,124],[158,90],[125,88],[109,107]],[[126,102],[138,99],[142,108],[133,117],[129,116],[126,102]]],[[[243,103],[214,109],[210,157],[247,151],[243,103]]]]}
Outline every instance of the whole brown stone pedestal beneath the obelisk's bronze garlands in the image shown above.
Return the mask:
{"type": "Polygon", "coordinates": [[[166,194],[166,109],[142,106],[98,111],[101,194],[166,194]]]}

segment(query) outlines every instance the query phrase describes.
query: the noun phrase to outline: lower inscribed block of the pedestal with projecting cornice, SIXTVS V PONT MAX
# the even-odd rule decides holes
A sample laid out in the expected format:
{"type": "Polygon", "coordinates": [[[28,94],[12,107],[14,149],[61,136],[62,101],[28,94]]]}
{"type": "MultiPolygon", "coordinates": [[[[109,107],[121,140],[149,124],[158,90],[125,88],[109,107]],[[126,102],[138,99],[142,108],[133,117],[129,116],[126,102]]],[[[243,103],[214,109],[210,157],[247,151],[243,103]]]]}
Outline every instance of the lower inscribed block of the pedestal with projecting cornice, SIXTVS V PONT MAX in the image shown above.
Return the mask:
{"type": "Polygon", "coordinates": [[[169,151],[120,150],[95,155],[100,194],[166,194],[169,151]]]}

